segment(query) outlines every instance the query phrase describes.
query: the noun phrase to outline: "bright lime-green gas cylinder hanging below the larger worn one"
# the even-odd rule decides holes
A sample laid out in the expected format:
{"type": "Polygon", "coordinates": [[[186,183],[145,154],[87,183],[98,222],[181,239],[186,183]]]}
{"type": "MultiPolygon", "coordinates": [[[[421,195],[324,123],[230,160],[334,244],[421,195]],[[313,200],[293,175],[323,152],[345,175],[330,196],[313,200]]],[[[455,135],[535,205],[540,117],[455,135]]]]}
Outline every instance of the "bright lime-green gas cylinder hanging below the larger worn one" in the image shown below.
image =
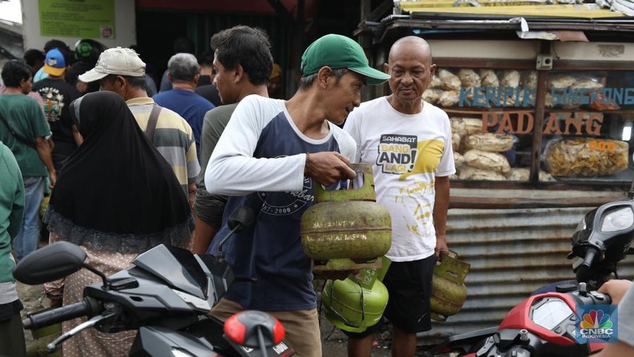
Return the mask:
{"type": "Polygon", "coordinates": [[[390,260],[383,257],[381,263],[380,269],[359,270],[358,277],[350,275],[346,280],[326,281],[321,301],[332,325],[358,333],[379,322],[388,299],[381,280],[390,267],[390,260]]]}

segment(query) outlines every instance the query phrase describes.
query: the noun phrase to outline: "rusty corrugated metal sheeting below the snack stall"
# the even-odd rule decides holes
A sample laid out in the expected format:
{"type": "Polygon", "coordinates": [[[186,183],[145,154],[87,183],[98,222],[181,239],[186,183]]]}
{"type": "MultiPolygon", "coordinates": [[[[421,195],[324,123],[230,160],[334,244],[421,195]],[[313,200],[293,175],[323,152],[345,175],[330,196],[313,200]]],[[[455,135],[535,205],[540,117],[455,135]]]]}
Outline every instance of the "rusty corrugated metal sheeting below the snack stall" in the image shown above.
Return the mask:
{"type": "MultiPolygon", "coordinates": [[[[499,324],[513,306],[550,282],[574,279],[566,259],[575,227],[591,208],[526,210],[452,209],[449,249],[471,264],[468,296],[460,313],[434,323],[419,343],[499,324]]],[[[619,277],[634,277],[634,257],[619,265],[619,277]]]]}

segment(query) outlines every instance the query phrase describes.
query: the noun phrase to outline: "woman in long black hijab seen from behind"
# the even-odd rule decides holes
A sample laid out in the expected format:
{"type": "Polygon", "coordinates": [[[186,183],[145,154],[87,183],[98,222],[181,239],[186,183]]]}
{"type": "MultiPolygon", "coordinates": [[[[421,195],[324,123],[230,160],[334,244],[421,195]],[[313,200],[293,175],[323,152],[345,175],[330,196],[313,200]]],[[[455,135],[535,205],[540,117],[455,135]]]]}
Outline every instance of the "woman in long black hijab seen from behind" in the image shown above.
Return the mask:
{"type": "MultiPolygon", "coordinates": [[[[159,244],[190,249],[194,221],[170,165],[145,137],[123,99],[90,93],[70,105],[84,142],[58,175],[44,216],[51,242],[87,251],[87,263],[111,275],[159,244]]],[[[99,277],[80,270],[65,282],[45,284],[52,300],[81,301],[99,277]]],[[[85,319],[63,323],[66,332],[85,319]]],[[[87,330],[63,345],[64,356],[128,356],[136,332],[87,330]]]]}

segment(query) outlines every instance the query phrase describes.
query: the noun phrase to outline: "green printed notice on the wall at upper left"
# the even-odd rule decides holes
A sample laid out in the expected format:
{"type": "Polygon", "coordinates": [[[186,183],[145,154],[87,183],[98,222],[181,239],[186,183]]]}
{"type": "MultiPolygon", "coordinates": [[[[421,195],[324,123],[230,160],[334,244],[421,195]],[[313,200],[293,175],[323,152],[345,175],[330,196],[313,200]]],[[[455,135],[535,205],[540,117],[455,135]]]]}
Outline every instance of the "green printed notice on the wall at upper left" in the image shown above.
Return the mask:
{"type": "Polygon", "coordinates": [[[116,39],[114,0],[39,0],[42,36],[116,39]]]}

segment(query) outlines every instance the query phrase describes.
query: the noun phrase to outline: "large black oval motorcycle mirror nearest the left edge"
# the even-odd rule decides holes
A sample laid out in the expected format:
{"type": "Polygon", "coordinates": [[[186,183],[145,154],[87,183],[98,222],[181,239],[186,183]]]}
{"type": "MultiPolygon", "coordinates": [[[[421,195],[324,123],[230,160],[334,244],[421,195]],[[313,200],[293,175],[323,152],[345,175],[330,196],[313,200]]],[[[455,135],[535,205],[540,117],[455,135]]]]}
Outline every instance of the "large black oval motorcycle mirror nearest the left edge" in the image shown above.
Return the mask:
{"type": "Polygon", "coordinates": [[[36,285],[61,279],[82,268],[86,252],[69,242],[56,242],[25,256],[13,270],[19,282],[36,285]]]}

